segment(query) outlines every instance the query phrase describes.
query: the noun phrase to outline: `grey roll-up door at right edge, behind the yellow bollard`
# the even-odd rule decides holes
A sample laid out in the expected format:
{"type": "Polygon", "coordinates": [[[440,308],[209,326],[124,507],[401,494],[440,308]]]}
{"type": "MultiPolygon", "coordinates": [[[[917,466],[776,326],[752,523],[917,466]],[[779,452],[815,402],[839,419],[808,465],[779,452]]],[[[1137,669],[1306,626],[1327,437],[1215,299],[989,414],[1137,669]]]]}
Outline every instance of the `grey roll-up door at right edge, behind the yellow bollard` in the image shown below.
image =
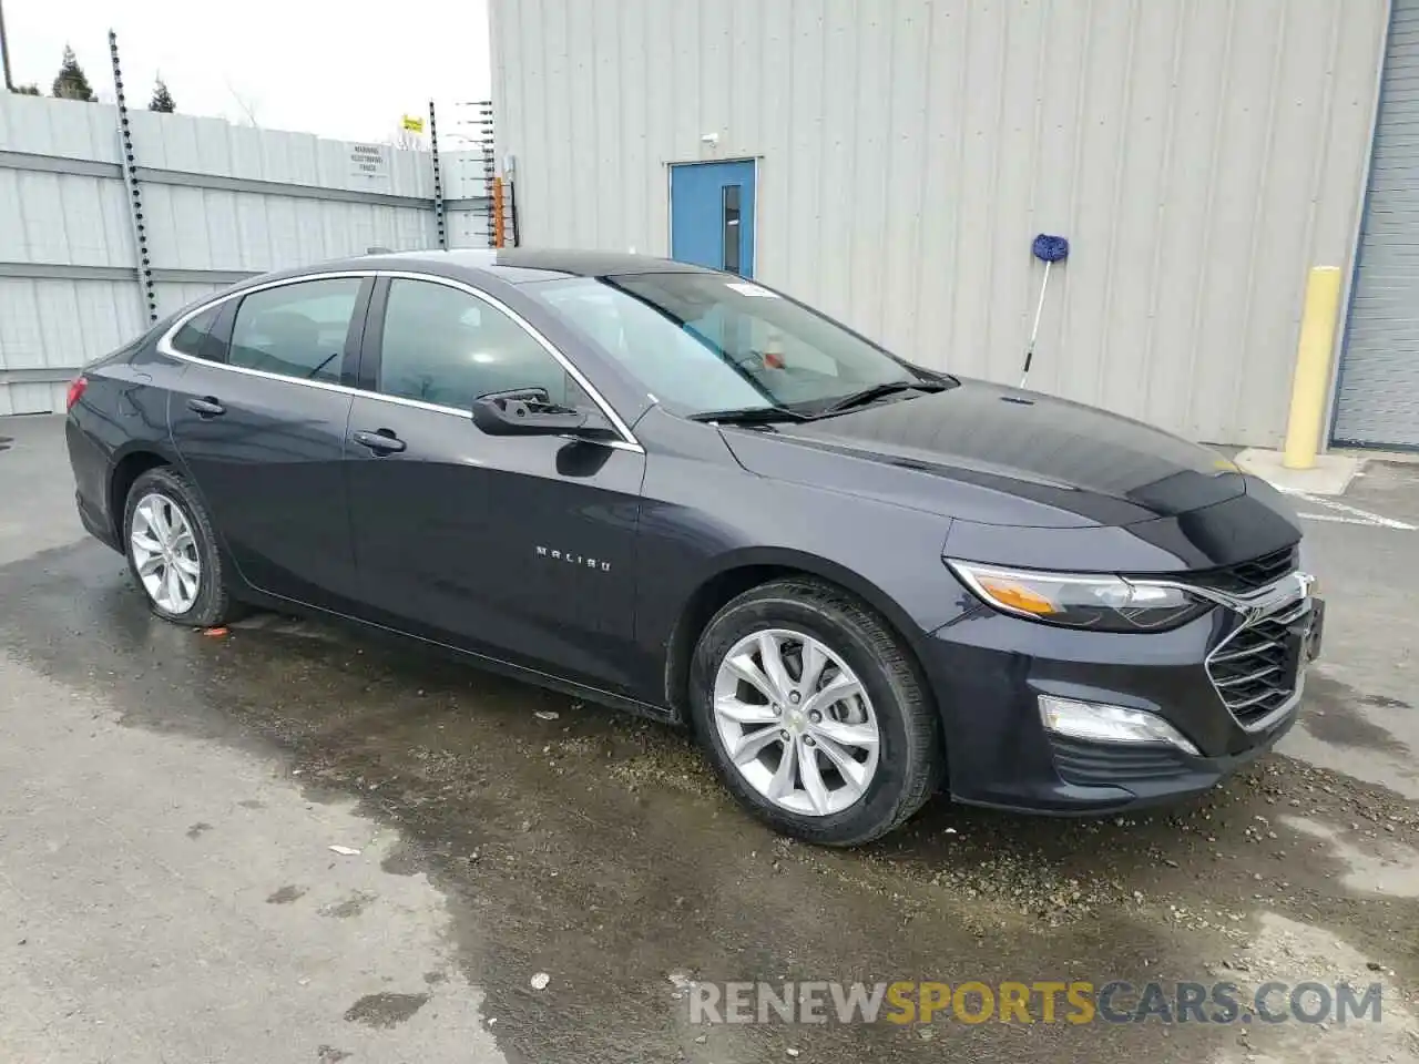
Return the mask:
{"type": "Polygon", "coordinates": [[[1337,443],[1419,447],[1419,0],[1393,0],[1337,443]]]}

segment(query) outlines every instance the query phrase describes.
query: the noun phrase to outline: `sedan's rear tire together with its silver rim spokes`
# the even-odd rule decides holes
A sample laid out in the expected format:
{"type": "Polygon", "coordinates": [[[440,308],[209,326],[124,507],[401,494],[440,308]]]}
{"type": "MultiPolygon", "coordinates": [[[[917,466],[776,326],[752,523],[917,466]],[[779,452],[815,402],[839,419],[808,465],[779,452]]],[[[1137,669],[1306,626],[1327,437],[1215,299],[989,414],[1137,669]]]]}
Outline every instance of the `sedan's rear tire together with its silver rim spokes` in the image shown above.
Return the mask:
{"type": "MultiPolygon", "coordinates": [[[[175,526],[177,525],[175,523],[175,526]]],[[[201,505],[201,499],[197,498],[187,481],[172,467],[159,465],[149,470],[133,481],[133,487],[129,488],[128,498],[123,501],[123,553],[128,558],[128,569],[133,575],[135,583],[138,583],[139,589],[148,597],[149,607],[163,620],[207,628],[223,624],[233,616],[231,599],[226,589],[226,569],[221,552],[217,549],[217,536],[211,528],[211,518],[207,516],[207,509],[201,505]],[[162,586],[155,593],[149,587],[149,582],[145,580],[145,575],[139,572],[142,560],[138,556],[140,548],[135,543],[135,522],[139,523],[139,539],[142,542],[158,542],[156,538],[148,535],[150,525],[146,515],[152,509],[145,509],[142,515],[139,514],[140,506],[149,506],[155,499],[160,501],[159,511],[167,515],[169,521],[173,521],[173,518],[166,508],[170,506],[175,509],[190,532],[190,548],[186,541],[182,541],[179,548],[187,565],[196,566],[196,576],[192,577],[196,584],[196,594],[192,596],[190,604],[186,603],[186,594],[182,596],[182,602],[165,597],[165,587],[162,586]]],[[[166,565],[160,566],[163,575],[166,575],[166,565]]],[[[184,569],[183,572],[190,570],[184,569]]],[[[153,573],[149,573],[149,576],[153,576],[153,573]]],[[[163,577],[158,579],[159,584],[162,584],[163,577]]],[[[183,590],[187,586],[187,583],[183,583],[183,590]]]]}

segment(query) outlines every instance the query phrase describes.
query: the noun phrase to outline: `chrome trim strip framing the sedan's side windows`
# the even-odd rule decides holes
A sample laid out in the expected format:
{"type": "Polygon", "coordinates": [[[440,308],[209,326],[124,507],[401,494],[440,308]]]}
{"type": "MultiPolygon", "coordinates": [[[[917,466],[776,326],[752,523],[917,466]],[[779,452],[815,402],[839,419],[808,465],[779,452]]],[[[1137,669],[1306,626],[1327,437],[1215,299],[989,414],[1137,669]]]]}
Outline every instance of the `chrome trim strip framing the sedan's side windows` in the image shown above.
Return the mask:
{"type": "MultiPolygon", "coordinates": [[[[517,322],[522,328],[524,332],[526,332],[529,336],[532,336],[532,339],[536,340],[548,355],[551,355],[553,359],[556,359],[561,363],[562,369],[565,369],[570,375],[570,377],[578,384],[582,386],[582,389],[586,392],[586,394],[590,396],[592,401],[597,406],[597,409],[602,411],[602,414],[606,416],[606,420],[610,421],[612,427],[622,437],[620,440],[604,440],[604,441],[600,441],[600,443],[603,443],[603,445],[612,447],[612,448],[617,448],[617,450],[636,451],[637,454],[644,454],[646,453],[646,448],[641,447],[641,444],[636,438],[634,433],[631,433],[630,426],[627,426],[626,421],[622,420],[622,416],[616,413],[616,409],[609,401],[606,401],[604,396],[602,396],[602,393],[592,384],[592,382],[586,379],[586,375],[582,373],[582,370],[578,369],[576,365],[569,358],[566,358],[566,355],[563,355],[561,350],[558,350],[558,348],[551,340],[548,340],[546,336],[543,336],[541,332],[538,332],[526,321],[526,318],[524,318],[521,314],[518,314],[517,311],[514,311],[511,306],[508,306],[505,302],[502,302],[497,297],[490,295],[488,292],[484,292],[482,289],[475,288],[474,285],[470,285],[465,281],[458,281],[458,279],[451,278],[451,277],[443,277],[440,274],[421,274],[421,272],[417,272],[417,271],[413,271],[413,270],[332,270],[332,271],[314,272],[314,274],[301,274],[298,277],[282,277],[282,278],[280,278],[277,281],[265,281],[265,282],[258,284],[258,285],[250,285],[250,287],[241,288],[240,291],[236,291],[236,292],[226,292],[224,295],[220,295],[216,299],[211,299],[210,302],[204,302],[200,306],[196,306],[192,311],[189,311],[187,314],[184,314],[182,318],[179,318],[176,322],[173,322],[167,328],[167,331],[163,332],[162,336],[159,336],[159,339],[158,339],[158,352],[160,355],[166,355],[167,358],[179,359],[180,362],[194,362],[194,363],[197,363],[200,366],[213,366],[216,369],[227,370],[228,373],[244,373],[247,376],[264,377],[267,380],[282,380],[282,382],[287,382],[287,383],[291,383],[291,384],[299,384],[302,387],[314,387],[314,389],[321,389],[321,390],[325,390],[325,392],[339,392],[339,393],[349,394],[349,396],[359,396],[359,397],[363,397],[363,399],[375,399],[375,400],[379,400],[382,403],[394,403],[396,406],[409,406],[409,407],[414,407],[417,410],[430,410],[433,413],[440,413],[440,414],[453,414],[455,417],[464,417],[464,419],[467,419],[467,420],[471,421],[473,420],[473,411],[471,410],[461,410],[458,407],[451,407],[451,406],[440,406],[437,403],[424,403],[424,401],[417,400],[417,399],[403,399],[402,396],[386,396],[386,394],[383,394],[380,392],[375,392],[375,390],[370,390],[370,389],[362,389],[362,387],[350,387],[349,384],[343,384],[343,383],[342,384],[335,384],[335,383],[329,383],[329,382],[325,382],[325,380],[307,380],[304,377],[288,377],[288,376],[282,376],[280,373],[270,373],[270,372],[263,370],[263,369],[250,369],[247,366],[233,366],[230,362],[210,362],[207,359],[201,359],[201,358],[197,358],[194,355],[183,355],[180,350],[176,350],[172,346],[172,338],[177,333],[177,331],[183,325],[187,323],[189,319],[196,318],[199,314],[203,314],[204,311],[210,311],[213,306],[219,306],[219,305],[226,304],[226,302],[228,302],[231,299],[241,299],[241,298],[244,298],[247,295],[251,295],[254,292],[263,292],[263,291],[267,291],[270,288],[284,288],[285,285],[295,285],[295,284],[302,284],[302,282],[307,282],[307,281],[335,281],[335,279],[346,278],[346,277],[359,277],[359,278],[373,277],[376,279],[379,279],[379,278],[390,278],[390,279],[393,279],[393,278],[402,278],[402,279],[406,279],[406,281],[430,281],[433,284],[441,284],[441,285],[444,285],[447,288],[457,288],[460,292],[465,292],[465,294],[471,295],[474,299],[478,299],[478,301],[487,304],[492,309],[501,311],[508,318],[511,318],[514,322],[517,322]]],[[[369,309],[370,309],[370,305],[373,304],[373,301],[375,301],[375,294],[370,294],[370,299],[365,305],[366,319],[365,319],[365,322],[362,322],[362,326],[363,326],[362,332],[368,331],[368,325],[369,325],[369,316],[368,315],[369,315],[369,309]]],[[[359,315],[356,314],[356,316],[359,316],[359,315]]],[[[362,359],[362,362],[363,362],[363,359],[362,359]]]]}

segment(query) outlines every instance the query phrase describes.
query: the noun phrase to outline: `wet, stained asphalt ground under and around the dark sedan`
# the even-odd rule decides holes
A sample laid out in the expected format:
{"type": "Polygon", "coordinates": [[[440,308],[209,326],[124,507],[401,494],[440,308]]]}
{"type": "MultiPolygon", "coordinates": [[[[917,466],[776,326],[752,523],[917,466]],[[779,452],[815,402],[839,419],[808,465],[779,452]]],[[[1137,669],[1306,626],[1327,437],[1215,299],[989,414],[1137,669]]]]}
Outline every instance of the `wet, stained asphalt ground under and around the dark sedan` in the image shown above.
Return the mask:
{"type": "MultiPolygon", "coordinates": [[[[1303,502],[1325,657],[1205,800],[937,800],[841,853],[746,820],[657,725],[311,623],[163,624],[84,536],[61,421],[0,437],[7,1064],[1419,1058],[1416,531],[1303,502]],[[687,979],[1385,990],[1325,1029],[700,1027],[687,979]]],[[[1341,505],[1419,525],[1419,465],[1341,505]]]]}

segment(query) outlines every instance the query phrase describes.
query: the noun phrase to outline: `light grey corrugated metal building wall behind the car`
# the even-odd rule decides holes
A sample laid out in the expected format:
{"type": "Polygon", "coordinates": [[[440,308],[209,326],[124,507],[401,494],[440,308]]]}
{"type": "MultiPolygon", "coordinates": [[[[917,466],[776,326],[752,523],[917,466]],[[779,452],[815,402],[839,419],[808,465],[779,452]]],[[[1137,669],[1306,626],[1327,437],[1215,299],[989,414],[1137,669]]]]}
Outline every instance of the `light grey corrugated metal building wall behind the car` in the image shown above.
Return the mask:
{"type": "Polygon", "coordinates": [[[668,251],[671,162],[759,157],[756,272],[901,353],[1274,445],[1304,271],[1354,244],[1386,0],[492,0],[524,240],[668,251]],[[712,149],[704,133],[718,133],[712,149]]]}

